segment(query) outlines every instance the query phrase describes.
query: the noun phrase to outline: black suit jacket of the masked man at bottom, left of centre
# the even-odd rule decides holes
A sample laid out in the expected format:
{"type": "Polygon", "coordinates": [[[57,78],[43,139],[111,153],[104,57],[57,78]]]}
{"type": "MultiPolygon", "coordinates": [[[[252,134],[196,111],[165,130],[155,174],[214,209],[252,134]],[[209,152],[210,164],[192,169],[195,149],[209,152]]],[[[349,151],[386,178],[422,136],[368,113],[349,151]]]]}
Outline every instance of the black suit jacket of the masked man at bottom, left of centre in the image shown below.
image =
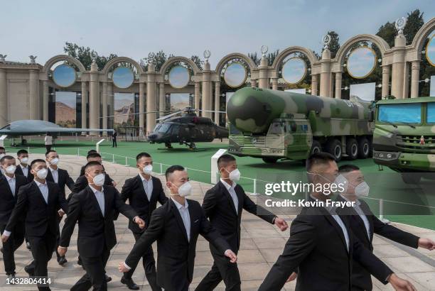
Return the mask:
{"type": "Polygon", "coordinates": [[[188,199],[190,241],[183,219],[172,199],[154,210],[148,228],[134,244],[125,263],[134,267],[154,241],[157,241],[157,284],[167,290],[178,290],[192,282],[198,235],[225,253],[230,246],[211,226],[200,204],[188,199]]]}

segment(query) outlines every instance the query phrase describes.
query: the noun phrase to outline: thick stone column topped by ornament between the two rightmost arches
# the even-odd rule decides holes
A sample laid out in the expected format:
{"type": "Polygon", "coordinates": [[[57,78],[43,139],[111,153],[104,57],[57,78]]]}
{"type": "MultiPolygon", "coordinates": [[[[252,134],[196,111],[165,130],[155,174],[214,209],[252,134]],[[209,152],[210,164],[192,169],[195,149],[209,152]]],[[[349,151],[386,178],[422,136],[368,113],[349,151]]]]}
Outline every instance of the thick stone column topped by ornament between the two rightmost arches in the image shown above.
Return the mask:
{"type": "Polygon", "coordinates": [[[404,98],[404,63],[405,63],[405,48],[406,39],[403,34],[399,34],[394,38],[393,62],[392,62],[392,79],[391,79],[391,94],[397,99],[404,98]]]}

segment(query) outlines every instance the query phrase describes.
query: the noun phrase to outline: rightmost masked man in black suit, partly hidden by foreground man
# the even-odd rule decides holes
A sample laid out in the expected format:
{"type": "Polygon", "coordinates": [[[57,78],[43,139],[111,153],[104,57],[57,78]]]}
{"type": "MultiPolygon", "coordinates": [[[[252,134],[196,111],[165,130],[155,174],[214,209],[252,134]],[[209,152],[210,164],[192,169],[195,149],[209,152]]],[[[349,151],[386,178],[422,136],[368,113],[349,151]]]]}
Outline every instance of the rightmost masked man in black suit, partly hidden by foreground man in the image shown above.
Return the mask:
{"type": "MultiPolygon", "coordinates": [[[[347,185],[345,191],[338,196],[338,200],[355,202],[355,204],[353,207],[346,207],[337,212],[341,215],[348,215],[353,234],[358,237],[365,248],[373,251],[373,234],[377,234],[412,248],[421,247],[430,251],[435,249],[435,242],[431,239],[419,238],[377,219],[364,199],[359,199],[367,197],[370,190],[360,168],[356,165],[342,165],[338,168],[338,172],[345,178],[343,182],[347,185]]],[[[352,290],[372,290],[370,273],[356,260],[353,261],[352,268],[352,290]]]]}

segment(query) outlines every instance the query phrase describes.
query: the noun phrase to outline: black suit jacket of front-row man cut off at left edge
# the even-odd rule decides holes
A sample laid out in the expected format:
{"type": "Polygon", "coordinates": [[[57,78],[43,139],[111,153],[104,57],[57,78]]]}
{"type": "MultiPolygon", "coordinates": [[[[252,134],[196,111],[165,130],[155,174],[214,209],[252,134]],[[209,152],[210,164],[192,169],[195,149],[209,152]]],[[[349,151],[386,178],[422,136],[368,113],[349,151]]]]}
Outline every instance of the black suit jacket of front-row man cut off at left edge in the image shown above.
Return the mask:
{"type": "Polygon", "coordinates": [[[26,177],[15,175],[15,193],[12,194],[7,178],[4,175],[0,176],[0,224],[8,223],[16,204],[18,190],[26,184],[26,177]]]}

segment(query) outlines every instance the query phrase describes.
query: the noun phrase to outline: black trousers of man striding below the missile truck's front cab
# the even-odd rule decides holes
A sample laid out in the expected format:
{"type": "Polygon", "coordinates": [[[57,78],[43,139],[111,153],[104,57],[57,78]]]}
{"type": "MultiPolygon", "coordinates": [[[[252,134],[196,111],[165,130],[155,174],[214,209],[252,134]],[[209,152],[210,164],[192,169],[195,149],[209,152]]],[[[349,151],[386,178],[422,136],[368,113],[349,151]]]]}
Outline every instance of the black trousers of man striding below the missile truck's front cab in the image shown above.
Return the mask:
{"type": "Polygon", "coordinates": [[[225,290],[239,291],[242,282],[240,281],[237,263],[230,263],[230,259],[220,254],[213,246],[210,246],[210,251],[215,261],[211,270],[201,280],[195,291],[214,290],[222,280],[225,282],[225,290]]]}

